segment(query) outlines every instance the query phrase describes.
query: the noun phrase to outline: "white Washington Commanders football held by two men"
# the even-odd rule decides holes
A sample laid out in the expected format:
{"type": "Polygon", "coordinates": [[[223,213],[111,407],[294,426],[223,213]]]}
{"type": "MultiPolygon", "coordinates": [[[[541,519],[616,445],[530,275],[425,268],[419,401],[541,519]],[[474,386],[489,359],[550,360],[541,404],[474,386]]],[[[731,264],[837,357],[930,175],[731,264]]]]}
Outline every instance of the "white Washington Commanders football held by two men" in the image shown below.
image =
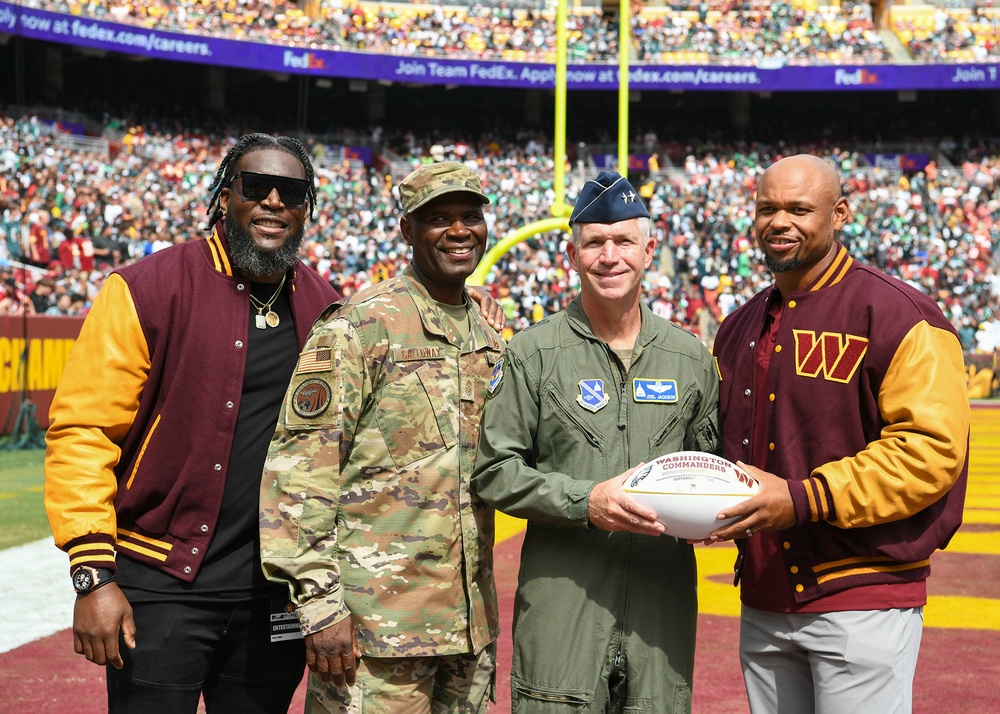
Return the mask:
{"type": "Polygon", "coordinates": [[[736,520],[720,521],[716,516],[756,494],[757,481],[721,456],[677,451],[632,474],[625,492],[656,511],[668,535],[701,540],[736,520]]]}

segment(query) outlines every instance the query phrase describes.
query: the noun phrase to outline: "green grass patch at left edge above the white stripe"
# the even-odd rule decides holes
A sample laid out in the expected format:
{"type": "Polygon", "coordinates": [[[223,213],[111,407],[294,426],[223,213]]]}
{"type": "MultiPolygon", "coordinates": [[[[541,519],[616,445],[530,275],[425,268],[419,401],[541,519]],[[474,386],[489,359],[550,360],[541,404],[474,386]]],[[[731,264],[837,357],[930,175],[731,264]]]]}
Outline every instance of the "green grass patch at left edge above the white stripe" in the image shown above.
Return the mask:
{"type": "Polygon", "coordinates": [[[0,451],[0,549],[50,535],[42,508],[44,449],[0,451]]]}

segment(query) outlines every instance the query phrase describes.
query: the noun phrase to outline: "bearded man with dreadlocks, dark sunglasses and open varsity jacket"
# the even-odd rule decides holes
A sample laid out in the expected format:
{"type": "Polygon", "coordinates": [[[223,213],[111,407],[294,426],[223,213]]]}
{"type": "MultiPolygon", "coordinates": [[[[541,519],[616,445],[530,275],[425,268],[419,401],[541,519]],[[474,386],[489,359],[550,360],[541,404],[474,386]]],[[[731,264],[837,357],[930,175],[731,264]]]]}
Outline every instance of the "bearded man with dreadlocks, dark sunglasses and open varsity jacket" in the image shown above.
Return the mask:
{"type": "Polygon", "coordinates": [[[116,270],[52,402],[45,506],[69,554],[78,654],[115,712],[285,712],[305,649],[261,573],[267,444],[313,321],[338,299],[296,259],[316,199],[302,144],[243,136],[207,240],[116,270]],[[117,554],[117,558],[116,558],[117,554]]]}

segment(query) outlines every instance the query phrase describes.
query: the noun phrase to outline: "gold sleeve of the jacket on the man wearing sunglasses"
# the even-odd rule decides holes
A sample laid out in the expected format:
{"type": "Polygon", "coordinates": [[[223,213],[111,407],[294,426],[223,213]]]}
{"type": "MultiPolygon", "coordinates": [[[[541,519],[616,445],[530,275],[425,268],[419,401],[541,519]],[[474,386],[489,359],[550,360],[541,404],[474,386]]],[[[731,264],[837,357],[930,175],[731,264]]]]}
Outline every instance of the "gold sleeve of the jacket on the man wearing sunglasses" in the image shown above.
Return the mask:
{"type": "Polygon", "coordinates": [[[116,534],[115,466],[149,375],[149,348],[125,280],[94,300],[49,409],[45,511],[56,545],[116,534]]]}

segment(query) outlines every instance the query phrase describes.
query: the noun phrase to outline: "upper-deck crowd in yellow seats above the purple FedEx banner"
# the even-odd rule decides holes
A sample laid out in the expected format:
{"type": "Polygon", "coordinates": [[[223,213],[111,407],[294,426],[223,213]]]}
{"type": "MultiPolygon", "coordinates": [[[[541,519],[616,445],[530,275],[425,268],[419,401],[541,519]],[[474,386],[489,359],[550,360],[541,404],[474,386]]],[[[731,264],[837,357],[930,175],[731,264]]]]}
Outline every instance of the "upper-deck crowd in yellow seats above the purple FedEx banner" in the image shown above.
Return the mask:
{"type": "MultiPolygon", "coordinates": [[[[309,44],[324,49],[425,54],[479,59],[554,59],[555,7],[516,3],[412,6],[324,0],[307,14],[282,0],[27,0],[29,7],[147,29],[239,40],[309,44]]],[[[979,61],[1000,58],[993,8],[968,0],[938,8],[938,27],[900,14],[890,23],[913,59],[979,61]],[[970,13],[975,13],[970,17],[970,13]],[[916,27],[914,22],[917,23],[916,27]],[[954,51],[953,51],[954,50],[954,51]],[[955,52],[967,50],[965,54],[955,52]]],[[[878,63],[892,61],[871,3],[824,4],[684,0],[660,7],[636,4],[631,18],[633,59],[655,63],[878,63]]],[[[618,18],[594,7],[572,8],[567,20],[571,61],[607,62],[618,55],[618,18]]]]}

